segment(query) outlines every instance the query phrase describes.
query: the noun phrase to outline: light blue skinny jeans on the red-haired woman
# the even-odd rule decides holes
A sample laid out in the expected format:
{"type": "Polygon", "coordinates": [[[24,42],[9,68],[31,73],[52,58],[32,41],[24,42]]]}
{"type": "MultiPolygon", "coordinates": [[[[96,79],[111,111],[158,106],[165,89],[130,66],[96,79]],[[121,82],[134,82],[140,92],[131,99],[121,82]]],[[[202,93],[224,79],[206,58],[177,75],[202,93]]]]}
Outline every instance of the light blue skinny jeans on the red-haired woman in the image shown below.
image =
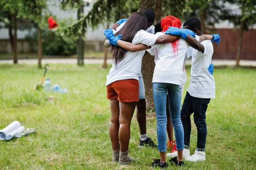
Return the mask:
{"type": "Polygon", "coordinates": [[[184,149],[184,132],[180,119],[181,86],[169,83],[153,83],[154,105],[157,113],[158,150],[166,152],[166,92],[168,90],[169,110],[175,132],[177,150],[184,149]]]}

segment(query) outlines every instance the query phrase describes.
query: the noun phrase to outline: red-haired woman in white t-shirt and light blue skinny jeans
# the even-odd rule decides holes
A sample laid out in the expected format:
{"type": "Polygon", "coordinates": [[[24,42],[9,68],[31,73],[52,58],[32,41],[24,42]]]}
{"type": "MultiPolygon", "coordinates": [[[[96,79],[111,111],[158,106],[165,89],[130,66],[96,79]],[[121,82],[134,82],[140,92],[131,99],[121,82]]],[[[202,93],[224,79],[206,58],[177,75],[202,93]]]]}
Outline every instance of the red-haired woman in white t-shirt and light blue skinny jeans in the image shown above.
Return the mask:
{"type": "MultiPolygon", "coordinates": [[[[168,26],[174,25],[176,21],[181,25],[180,20],[176,17],[169,16],[173,18],[165,20],[166,24],[163,24],[163,30],[168,29],[168,26]],[[174,19],[175,18],[175,19],[174,19]],[[164,27],[165,26],[165,27],[164,27]],[[167,28],[166,28],[167,27],[167,28]]],[[[179,26],[180,26],[179,25],[179,26]]],[[[178,28],[177,28],[178,29],[178,28]]],[[[182,150],[183,150],[183,127],[180,120],[180,104],[181,104],[181,81],[183,75],[183,61],[186,54],[186,50],[189,45],[192,47],[202,50],[202,45],[198,42],[200,38],[202,39],[212,39],[212,35],[204,35],[201,37],[196,37],[197,40],[190,35],[188,32],[190,30],[180,30],[178,29],[175,35],[180,35],[182,38],[178,41],[173,42],[172,44],[168,43],[165,45],[153,46],[152,50],[149,50],[151,54],[156,55],[157,62],[154,69],[153,76],[153,95],[154,103],[157,112],[157,141],[158,141],[158,150],[160,153],[161,159],[156,159],[152,162],[152,166],[166,167],[166,92],[168,89],[169,92],[169,104],[171,106],[171,117],[172,123],[175,129],[175,136],[177,141],[177,150],[178,158],[175,157],[170,161],[175,162],[176,165],[181,166],[183,164],[182,150]],[[189,43],[189,45],[188,45],[189,43]],[[164,95],[163,95],[164,94],[164,95]]],[[[121,33],[120,33],[121,34],[121,33]]],[[[168,30],[165,32],[168,34],[168,30]]],[[[163,32],[156,34],[157,36],[162,37],[165,35],[163,32]]],[[[119,39],[119,37],[116,37],[119,39]]],[[[109,39],[109,38],[108,38],[109,39]]],[[[110,40],[110,39],[109,39],[110,40]]],[[[122,37],[122,40],[123,37],[122,37]]],[[[114,43],[118,44],[124,49],[130,51],[136,51],[134,46],[139,46],[140,44],[134,45],[122,40],[115,40],[114,43]]],[[[112,42],[111,42],[112,43],[112,42]]],[[[152,46],[152,45],[151,45],[152,46]]]]}

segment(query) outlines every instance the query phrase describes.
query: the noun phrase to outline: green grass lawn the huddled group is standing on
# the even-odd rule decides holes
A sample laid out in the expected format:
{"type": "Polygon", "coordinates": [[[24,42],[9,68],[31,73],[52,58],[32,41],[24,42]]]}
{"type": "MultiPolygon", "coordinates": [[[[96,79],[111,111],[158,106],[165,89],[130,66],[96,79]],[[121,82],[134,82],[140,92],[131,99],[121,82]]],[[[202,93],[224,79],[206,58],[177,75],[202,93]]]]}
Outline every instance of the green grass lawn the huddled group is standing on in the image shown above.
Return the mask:
{"type": "MultiPolygon", "coordinates": [[[[51,65],[46,78],[68,89],[66,94],[58,94],[34,91],[43,69],[0,65],[0,129],[15,120],[25,128],[37,129],[26,137],[0,141],[0,169],[153,169],[152,157],[159,158],[159,154],[155,148],[138,147],[136,115],[129,149],[130,156],[139,161],[130,165],[111,162],[111,114],[105,88],[108,71],[99,65],[51,65]]],[[[255,169],[256,69],[215,69],[214,78],[216,98],[207,110],[207,160],[185,162],[179,169],[255,169]]],[[[188,84],[189,78],[186,88],[188,84]]],[[[147,118],[147,131],[157,143],[154,116],[147,118]]],[[[196,148],[196,134],[192,124],[191,153],[196,148]]]]}

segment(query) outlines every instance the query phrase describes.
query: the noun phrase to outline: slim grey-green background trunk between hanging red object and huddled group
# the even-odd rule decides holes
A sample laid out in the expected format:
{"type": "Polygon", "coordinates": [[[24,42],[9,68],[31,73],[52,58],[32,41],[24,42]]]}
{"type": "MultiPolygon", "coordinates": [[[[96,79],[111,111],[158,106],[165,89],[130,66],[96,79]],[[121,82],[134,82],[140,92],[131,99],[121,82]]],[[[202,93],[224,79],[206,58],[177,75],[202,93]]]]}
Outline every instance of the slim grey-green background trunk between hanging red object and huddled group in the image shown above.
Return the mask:
{"type": "MultiPolygon", "coordinates": [[[[81,6],[77,11],[77,19],[80,20],[81,13],[84,13],[84,6],[81,6]]],[[[76,54],[77,54],[77,64],[79,66],[84,65],[84,40],[81,34],[79,34],[79,39],[76,44],[76,54]]]]}

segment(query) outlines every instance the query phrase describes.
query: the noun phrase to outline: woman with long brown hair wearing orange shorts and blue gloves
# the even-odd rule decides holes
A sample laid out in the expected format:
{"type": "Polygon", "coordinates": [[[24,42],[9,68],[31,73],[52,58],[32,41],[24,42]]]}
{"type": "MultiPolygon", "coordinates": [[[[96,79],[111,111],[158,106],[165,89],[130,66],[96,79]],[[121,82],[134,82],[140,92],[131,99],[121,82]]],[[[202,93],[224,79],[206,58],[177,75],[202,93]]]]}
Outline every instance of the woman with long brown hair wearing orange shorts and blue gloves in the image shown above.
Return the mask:
{"type": "MultiPolygon", "coordinates": [[[[107,75],[106,86],[107,98],[110,99],[111,106],[109,133],[113,149],[113,161],[119,162],[119,164],[129,164],[132,161],[131,157],[128,156],[130,124],[136,103],[139,101],[138,80],[145,49],[151,48],[154,44],[165,44],[178,38],[174,35],[152,35],[145,32],[146,29],[147,18],[145,15],[141,12],[134,12],[128,18],[125,26],[116,32],[116,37],[113,35],[112,29],[103,32],[110,40],[111,45],[114,45],[111,46],[113,64],[107,75]],[[134,25],[134,23],[137,24],[134,25]],[[137,50],[137,52],[127,52],[119,47],[118,45],[122,44],[119,40],[120,35],[122,35],[123,40],[128,41],[122,42],[129,43],[131,51],[137,50]]],[[[194,35],[192,31],[189,33],[194,35]]]]}

